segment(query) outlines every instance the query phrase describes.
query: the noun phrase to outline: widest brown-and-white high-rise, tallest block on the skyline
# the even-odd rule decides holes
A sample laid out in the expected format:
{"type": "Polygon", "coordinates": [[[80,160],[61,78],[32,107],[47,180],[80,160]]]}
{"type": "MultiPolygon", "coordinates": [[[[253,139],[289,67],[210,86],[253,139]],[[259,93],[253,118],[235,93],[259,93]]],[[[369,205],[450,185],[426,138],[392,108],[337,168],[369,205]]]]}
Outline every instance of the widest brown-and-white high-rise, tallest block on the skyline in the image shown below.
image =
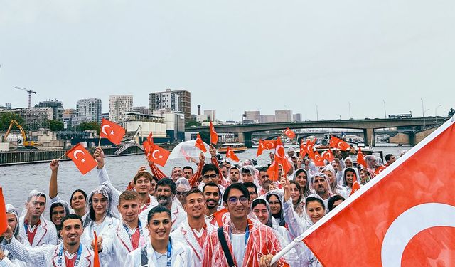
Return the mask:
{"type": "Polygon", "coordinates": [[[181,111],[185,120],[191,120],[191,93],[187,90],[171,89],[149,93],[149,110],[181,111]]]}

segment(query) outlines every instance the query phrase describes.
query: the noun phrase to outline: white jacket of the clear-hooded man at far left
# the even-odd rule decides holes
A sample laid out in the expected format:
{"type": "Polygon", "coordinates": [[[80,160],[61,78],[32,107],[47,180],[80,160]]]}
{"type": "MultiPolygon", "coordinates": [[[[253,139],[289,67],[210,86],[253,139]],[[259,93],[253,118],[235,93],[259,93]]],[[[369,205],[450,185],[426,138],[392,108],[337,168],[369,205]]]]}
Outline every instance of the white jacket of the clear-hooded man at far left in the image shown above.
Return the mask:
{"type": "Polygon", "coordinates": [[[41,217],[41,224],[36,226],[36,234],[33,239],[33,244],[28,242],[26,233],[26,225],[24,224],[25,216],[19,218],[19,235],[22,238],[22,243],[26,246],[42,246],[42,245],[56,245],[58,244],[57,229],[52,222],[41,217]]]}

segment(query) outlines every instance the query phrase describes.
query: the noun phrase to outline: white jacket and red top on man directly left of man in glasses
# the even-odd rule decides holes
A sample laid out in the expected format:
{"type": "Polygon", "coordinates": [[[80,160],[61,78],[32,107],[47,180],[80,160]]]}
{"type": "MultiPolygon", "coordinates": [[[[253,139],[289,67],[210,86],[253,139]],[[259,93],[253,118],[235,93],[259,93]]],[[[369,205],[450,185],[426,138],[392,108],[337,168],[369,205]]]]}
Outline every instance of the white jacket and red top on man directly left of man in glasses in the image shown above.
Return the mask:
{"type": "Polygon", "coordinates": [[[205,221],[203,229],[196,231],[195,229],[191,229],[187,220],[171,233],[171,238],[172,240],[188,245],[194,252],[195,266],[200,266],[204,258],[203,246],[208,235],[212,231],[216,231],[215,226],[210,224],[208,221],[205,221]]]}

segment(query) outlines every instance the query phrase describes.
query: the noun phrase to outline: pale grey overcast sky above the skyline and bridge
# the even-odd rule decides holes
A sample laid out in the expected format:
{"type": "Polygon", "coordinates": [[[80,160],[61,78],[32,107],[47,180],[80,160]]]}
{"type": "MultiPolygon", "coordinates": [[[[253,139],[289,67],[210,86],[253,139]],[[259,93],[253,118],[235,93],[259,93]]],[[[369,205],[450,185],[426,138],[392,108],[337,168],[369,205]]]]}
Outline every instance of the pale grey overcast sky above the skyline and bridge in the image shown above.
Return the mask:
{"type": "Polygon", "coordinates": [[[0,105],[191,91],[220,120],[446,115],[455,1],[0,0],[0,105]]]}

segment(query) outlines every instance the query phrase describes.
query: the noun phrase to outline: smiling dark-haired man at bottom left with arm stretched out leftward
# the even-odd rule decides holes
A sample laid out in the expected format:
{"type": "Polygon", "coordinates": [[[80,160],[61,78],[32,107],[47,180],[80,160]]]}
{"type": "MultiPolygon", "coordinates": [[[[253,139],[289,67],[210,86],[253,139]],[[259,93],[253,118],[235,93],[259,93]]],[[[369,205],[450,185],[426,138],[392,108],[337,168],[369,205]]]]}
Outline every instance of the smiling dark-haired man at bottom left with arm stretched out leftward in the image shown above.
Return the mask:
{"type": "Polygon", "coordinates": [[[92,266],[93,251],[80,243],[82,236],[82,219],[76,214],[69,214],[62,220],[60,236],[63,242],[59,245],[26,247],[14,236],[9,226],[4,234],[6,249],[18,260],[30,263],[31,266],[92,266]]]}

